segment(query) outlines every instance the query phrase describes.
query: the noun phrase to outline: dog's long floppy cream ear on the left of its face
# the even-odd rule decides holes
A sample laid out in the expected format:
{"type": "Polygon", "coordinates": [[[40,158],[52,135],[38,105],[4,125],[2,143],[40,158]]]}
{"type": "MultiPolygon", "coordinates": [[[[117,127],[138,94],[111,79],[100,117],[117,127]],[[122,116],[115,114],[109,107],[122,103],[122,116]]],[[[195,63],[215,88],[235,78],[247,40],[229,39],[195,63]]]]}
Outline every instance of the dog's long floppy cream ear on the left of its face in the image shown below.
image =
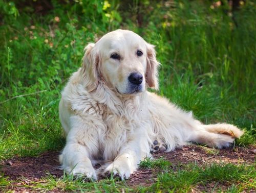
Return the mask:
{"type": "Polygon", "coordinates": [[[84,83],[89,92],[98,87],[100,76],[100,56],[94,49],[94,45],[94,43],[89,43],[84,48],[85,53],[82,60],[84,83]]]}

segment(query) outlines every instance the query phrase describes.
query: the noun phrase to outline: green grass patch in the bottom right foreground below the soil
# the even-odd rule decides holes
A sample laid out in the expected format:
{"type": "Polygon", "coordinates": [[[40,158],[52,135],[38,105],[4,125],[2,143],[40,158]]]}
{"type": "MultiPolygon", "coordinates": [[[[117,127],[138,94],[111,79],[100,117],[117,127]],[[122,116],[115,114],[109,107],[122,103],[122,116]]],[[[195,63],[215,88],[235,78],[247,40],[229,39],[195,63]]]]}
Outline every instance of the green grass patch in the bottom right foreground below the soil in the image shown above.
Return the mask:
{"type": "Polygon", "coordinates": [[[196,185],[207,186],[209,183],[215,183],[216,186],[225,184],[228,188],[241,191],[244,188],[248,188],[247,190],[256,188],[255,177],[255,165],[211,164],[203,168],[191,164],[177,172],[159,174],[156,183],[142,188],[141,191],[187,192],[196,185]],[[249,180],[252,180],[252,183],[248,183],[249,180]]]}

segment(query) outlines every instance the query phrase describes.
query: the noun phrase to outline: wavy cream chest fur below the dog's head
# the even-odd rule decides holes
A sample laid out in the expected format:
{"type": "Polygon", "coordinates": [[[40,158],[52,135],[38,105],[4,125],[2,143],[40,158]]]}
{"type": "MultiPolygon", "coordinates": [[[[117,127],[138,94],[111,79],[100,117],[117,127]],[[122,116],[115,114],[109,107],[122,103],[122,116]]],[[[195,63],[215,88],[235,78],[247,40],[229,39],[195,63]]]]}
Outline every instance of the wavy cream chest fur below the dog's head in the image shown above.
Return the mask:
{"type": "Polygon", "coordinates": [[[78,138],[84,144],[95,145],[91,153],[96,160],[113,160],[126,143],[134,139],[141,130],[150,126],[145,123],[150,116],[143,103],[144,98],[147,97],[145,93],[126,99],[117,99],[109,94],[109,98],[105,100],[106,95],[96,98],[79,86],[73,90],[72,96],[70,101],[75,114],[83,119],[84,124],[91,123],[94,127],[80,132],[81,136],[78,138]],[[88,117],[93,118],[88,119],[88,117]],[[84,135],[92,136],[90,138],[92,141],[84,141],[88,139],[84,135]]]}

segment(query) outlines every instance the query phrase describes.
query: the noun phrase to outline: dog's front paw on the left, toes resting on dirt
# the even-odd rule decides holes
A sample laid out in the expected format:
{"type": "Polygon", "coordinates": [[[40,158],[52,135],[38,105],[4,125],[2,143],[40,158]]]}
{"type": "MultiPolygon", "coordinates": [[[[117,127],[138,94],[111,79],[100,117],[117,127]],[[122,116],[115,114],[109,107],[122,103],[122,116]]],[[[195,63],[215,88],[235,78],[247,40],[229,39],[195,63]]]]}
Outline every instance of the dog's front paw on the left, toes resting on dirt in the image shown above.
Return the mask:
{"type": "Polygon", "coordinates": [[[65,169],[70,175],[76,178],[88,178],[90,180],[97,180],[96,171],[93,167],[85,165],[76,165],[72,170],[65,169]]]}

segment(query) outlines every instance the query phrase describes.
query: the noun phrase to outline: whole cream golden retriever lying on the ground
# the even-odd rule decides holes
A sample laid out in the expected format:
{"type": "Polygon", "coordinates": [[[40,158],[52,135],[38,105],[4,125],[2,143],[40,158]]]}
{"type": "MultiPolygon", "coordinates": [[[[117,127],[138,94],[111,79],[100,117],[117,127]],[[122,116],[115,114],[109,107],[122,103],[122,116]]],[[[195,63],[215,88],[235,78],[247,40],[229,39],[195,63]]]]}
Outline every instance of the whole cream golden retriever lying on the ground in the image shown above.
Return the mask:
{"type": "Polygon", "coordinates": [[[152,157],[152,150],[169,152],[188,141],[226,148],[243,134],[225,123],[204,125],[147,91],[158,89],[160,63],[154,45],[136,33],[110,32],[84,51],[59,103],[67,139],[59,161],[69,174],[94,180],[113,174],[123,180],[152,157]]]}

